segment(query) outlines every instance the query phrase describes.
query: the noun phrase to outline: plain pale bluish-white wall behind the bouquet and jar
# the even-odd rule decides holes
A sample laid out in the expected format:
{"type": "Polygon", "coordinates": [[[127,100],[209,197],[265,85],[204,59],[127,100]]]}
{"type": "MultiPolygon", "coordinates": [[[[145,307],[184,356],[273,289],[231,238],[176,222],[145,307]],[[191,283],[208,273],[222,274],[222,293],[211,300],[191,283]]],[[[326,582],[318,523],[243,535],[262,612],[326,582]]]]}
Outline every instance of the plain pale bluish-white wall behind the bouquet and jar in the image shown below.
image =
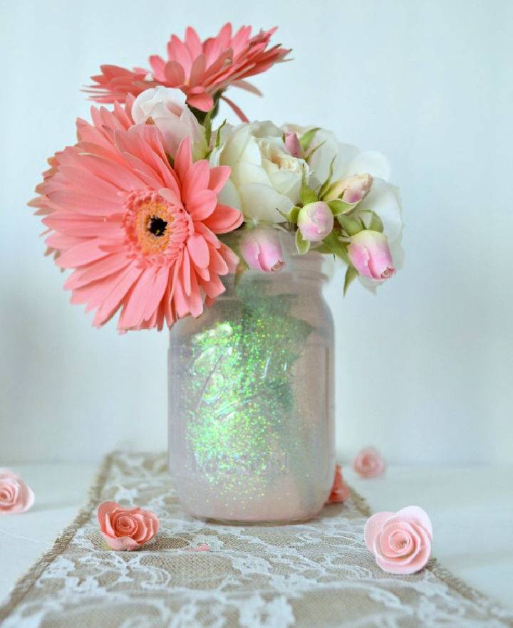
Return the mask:
{"type": "Polygon", "coordinates": [[[0,466],[165,448],[167,334],[91,328],[26,202],[100,63],[142,66],[227,20],[294,48],[254,79],[263,100],[232,90],[249,117],[381,150],[402,191],[403,271],[375,297],[328,288],[339,453],[511,461],[512,2],[0,0],[0,466]]]}

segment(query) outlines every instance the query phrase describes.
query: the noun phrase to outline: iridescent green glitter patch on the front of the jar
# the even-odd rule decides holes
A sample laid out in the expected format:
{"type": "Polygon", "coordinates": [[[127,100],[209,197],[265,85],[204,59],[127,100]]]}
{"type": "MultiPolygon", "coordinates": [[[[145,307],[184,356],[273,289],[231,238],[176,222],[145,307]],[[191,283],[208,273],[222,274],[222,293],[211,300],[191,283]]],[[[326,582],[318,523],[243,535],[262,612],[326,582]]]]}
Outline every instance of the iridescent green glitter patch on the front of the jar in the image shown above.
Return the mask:
{"type": "Polygon", "coordinates": [[[268,295],[264,281],[236,295],[226,320],[191,339],[186,439],[210,483],[254,492],[272,481],[270,465],[290,465],[291,378],[311,325],[289,315],[294,295],[268,295]]]}

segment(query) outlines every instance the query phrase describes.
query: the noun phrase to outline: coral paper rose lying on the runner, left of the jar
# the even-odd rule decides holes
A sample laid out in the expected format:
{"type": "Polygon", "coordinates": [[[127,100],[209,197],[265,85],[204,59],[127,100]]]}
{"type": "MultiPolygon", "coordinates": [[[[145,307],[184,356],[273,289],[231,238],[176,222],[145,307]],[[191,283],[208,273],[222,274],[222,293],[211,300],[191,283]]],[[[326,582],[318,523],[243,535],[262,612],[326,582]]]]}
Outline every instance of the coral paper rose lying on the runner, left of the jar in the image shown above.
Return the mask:
{"type": "Polygon", "coordinates": [[[115,501],[98,506],[98,523],[103,538],[113,550],[135,550],[157,534],[159,520],[152,511],[123,508],[115,501]]]}

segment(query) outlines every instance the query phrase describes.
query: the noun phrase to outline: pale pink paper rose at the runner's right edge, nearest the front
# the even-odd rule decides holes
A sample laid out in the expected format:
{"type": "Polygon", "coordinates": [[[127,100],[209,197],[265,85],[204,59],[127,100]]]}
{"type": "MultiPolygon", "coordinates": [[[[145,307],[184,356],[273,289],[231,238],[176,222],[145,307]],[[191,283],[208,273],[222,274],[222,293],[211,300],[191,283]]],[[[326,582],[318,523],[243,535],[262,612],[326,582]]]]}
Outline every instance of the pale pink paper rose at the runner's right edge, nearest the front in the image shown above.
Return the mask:
{"type": "Polygon", "coordinates": [[[376,513],[368,518],[363,537],[379,567],[388,573],[418,572],[430,558],[432,525],[418,506],[376,513]]]}

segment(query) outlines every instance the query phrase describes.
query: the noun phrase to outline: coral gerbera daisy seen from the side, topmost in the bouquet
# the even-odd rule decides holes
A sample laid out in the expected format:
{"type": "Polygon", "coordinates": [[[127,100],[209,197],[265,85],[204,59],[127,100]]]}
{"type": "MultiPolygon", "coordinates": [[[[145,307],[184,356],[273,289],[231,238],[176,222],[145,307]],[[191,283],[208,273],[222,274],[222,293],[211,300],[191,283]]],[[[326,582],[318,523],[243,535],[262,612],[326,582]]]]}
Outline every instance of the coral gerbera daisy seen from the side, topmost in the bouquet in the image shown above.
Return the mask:
{"type": "MultiPolygon", "coordinates": [[[[267,49],[276,28],[251,36],[251,26],[242,26],[232,36],[232,24],[225,24],[216,37],[201,41],[194,28],[187,28],[184,41],[172,35],[167,43],[167,61],[150,56],[151,71],[143,68],[101,66],[101,74],[92,76],[96,85],[87,90],[98,103],[125,100],[127,94],[137,96],[147,88],[164,85],[179,88],[187,95],[187,103],[201,111],[214,106],[213,95],[234,85],[250,92],[259,90],[244,78],[260,74],[274,63],[283,61],[290,52],[279,44],[267,49]]],[[[224,95],[232,109],[247,121],[241,110],[224,95]]]]}

